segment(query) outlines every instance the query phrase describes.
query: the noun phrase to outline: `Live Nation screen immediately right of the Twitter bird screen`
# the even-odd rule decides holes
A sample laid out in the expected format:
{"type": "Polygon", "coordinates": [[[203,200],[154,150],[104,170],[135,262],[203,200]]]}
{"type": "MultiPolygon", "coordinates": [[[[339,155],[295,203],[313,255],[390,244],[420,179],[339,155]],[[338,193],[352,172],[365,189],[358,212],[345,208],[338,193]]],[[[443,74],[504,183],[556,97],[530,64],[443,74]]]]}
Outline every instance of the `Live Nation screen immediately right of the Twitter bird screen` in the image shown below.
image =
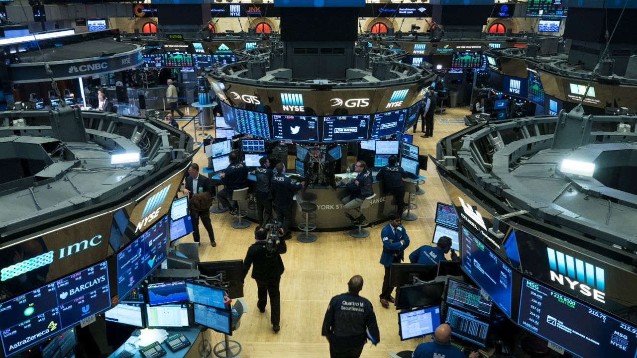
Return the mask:
{"type": "Polygon", "coordinates": [[[325,117],[323,119],[323,141],[367,140],[369,115],[325,117]]]}

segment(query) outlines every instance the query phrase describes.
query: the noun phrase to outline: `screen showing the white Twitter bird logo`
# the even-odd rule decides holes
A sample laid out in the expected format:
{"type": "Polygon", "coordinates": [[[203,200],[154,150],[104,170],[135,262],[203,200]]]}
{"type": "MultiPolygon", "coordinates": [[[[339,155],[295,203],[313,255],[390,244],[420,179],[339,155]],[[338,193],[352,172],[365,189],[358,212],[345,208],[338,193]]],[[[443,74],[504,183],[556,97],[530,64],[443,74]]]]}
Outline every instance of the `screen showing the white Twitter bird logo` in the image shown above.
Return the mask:
{"type": "Polygon", "coordinates": [[[275,140],[318,141],[318,117],[272,115],[272,136],[275,140]]]}

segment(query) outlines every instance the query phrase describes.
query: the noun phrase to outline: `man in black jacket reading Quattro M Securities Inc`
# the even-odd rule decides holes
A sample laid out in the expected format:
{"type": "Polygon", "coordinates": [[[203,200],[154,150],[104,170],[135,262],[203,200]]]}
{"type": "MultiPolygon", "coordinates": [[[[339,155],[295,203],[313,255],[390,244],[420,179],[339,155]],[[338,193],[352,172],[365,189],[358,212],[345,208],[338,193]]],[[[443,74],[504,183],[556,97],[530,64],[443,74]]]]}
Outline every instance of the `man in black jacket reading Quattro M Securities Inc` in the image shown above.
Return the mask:
{"type": "Polygon", "coordinates": [[[373,345],[380,341],[374,308],[359,296],[362,277],[350,278],[347,287],[349,292],[332,297],[323,319],[321,334],[329,341],[331,358],[358,358],[368,337],[373,345]]]}

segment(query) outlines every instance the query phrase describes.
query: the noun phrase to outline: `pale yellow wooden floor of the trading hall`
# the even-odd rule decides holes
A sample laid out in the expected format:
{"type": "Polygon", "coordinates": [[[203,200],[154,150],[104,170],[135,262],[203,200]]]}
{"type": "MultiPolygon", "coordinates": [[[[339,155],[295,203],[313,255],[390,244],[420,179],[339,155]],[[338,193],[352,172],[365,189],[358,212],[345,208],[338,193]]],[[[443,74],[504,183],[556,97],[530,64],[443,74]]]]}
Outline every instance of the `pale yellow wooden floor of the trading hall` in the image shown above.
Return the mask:
{"type": "MultiPolygon", "coordinates": [[[[194,112],[192,108],[190,110],[194,112]]],[[[436,142],[463,129],[461,118],[467,114],[466,108],[452,108],[447,109],[447,115],[436,116],[433,138],[420,138],[422,133],[412,133],[411,129],[408,134],[414,134],[413,143],[420,147],[420,154],[435,155],[436,142]]],[[[186,131],[192,133],[192,126],[186,131]]],[[[207,133],[214,134],[214,131],[207,133]]],[[[201,138],[198,136],[197,140],[201,141],[201,138]]],[[[195,162],[200,167],[207,166],[203,150],[196,155],[195,162]]],[[[436,203],[449,201],[431,163],[428,170],[420,174],[427,177],[427,183],[424,185],[426,194],[416,196],[418,208],[413,212],[419,218],[411,222],[403,221],[411,239],[407,254],[421,245],[431,243],[436,203]]],[[[217,247],[210,246],[205,239],[206,230],[200,226],[201,261],[243,259],[254,242],[255,224],[248,229],[236,230],[230,227],[231,217],[228,213],[211,214],[211,217],[217,247]]],[[[389,357],[388,350],[413,350],[420,342],[401,342],[397,311],[393,306],[383,308],[378,301],[383,280],[383,266],[378,263],[382,252],[382,227],[368,228],[371,234],[365,239],[351,238],[347,231],[339,231],[318,233],[318,240],[309,244],[296,241],[296,233],[292,240],[287,241],[287,254],[283,255],[285,273],[281,280],[281,331],[278,334],[273,333],[270,325],[269,304],[265,313],[257,310],[257,286],[248,273],[243,297],[248,312],[243,315],[241,327],[232,337],[243,346],[241,357],[329,357],[328,343],[320,335],[323,317],[329,299],[347,291],[347,281],[353,275],[364,278],[361,296],[373,304],[380,328],[380,343],[376,346],[368,343],[361,357],[389,357]]],[[[184,242],[191,240],[190,236],[182,239],[184,242]]],[[[214,333],[212,338],[220,341],[223,335],[214,333]]]]}

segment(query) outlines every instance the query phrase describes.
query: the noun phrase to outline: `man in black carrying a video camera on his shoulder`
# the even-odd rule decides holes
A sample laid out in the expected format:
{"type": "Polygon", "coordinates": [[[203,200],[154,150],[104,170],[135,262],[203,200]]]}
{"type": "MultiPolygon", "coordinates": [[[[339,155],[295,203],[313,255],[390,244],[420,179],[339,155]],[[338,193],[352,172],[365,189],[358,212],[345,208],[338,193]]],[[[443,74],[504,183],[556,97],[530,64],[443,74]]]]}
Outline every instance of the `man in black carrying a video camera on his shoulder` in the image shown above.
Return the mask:
{"type": "MultiPolygon", "coordinates": [[[[281,237],[283,231],[279,229],[277,234],[281,237]]],[[[273,247],[267,240],[268,230],[261,226],[258,226],[254,231],[254,238],[257,241],[248,248],[248,253],[243,260],[243,278],[248,275],[250,266],[254,263],[252,278],[257,282],[257,308],[259,308],[261,313],[266,311],[269,294],[270,322],[272,323],[272,330],[276,333],[281,329],[281,326],[279,326],[281,319],[279,283],[281,282],[281,275],[285,271],[281,254],[287,252],[287,246],[285,245],[285,240],[280,240],[280,243],[273,247]]]]}

